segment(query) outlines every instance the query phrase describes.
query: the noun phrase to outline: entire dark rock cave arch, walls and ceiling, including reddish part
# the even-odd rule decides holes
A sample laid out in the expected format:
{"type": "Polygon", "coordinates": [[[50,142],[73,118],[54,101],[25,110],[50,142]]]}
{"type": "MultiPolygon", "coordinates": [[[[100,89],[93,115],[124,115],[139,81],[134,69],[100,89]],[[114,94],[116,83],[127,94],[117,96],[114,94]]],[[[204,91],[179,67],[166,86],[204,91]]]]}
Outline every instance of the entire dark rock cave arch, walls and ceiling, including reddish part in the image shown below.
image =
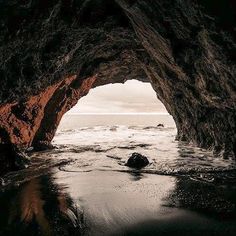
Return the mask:
{"type": "Polygon", "coordinates": [[[235,12],[234,0],[1,0],[1,149],[50,146],[90,88],[139,79],[179,140],[235,155],[235,12]]]}

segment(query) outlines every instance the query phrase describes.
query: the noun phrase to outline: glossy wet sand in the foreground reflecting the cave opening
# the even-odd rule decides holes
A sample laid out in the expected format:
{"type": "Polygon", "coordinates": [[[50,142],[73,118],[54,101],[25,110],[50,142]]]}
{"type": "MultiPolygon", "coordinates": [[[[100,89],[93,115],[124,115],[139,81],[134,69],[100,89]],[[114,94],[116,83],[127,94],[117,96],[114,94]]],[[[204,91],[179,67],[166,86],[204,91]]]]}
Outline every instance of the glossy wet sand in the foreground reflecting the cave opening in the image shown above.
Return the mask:
{"type": "Polygon", "coordinates": [[[0,235],[235,235],[235,196],[187,177],[53,168],[1,191],[0,235]]]}

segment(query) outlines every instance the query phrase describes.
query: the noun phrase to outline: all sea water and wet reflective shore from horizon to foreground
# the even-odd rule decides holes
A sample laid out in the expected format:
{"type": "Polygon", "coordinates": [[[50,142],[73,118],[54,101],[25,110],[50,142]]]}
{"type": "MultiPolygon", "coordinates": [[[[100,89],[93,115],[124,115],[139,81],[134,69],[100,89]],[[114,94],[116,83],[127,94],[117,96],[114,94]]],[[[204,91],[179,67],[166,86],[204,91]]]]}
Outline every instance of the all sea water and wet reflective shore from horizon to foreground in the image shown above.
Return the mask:
{"type": "Polygon", "coordinates": [[[66,116],[57,148],[2,180],[0,235],[235,235],[235,160],[175,135],[170,116],[66,116]]]}

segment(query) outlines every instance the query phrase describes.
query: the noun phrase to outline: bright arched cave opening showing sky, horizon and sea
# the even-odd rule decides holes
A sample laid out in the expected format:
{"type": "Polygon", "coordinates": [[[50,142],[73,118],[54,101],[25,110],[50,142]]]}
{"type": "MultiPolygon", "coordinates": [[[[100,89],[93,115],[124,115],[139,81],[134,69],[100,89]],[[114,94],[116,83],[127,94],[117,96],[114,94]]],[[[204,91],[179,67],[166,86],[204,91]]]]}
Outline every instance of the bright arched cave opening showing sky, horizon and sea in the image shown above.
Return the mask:
{"type": "Polygon", "coordinates": [[[63,116],[52,144],[102,145],[109,140],[148,143],[154,133],[170,135],[165,139],[172,142],[176,135],[174,120],[150,83],[128,80],[91,89],[63,116]]]}

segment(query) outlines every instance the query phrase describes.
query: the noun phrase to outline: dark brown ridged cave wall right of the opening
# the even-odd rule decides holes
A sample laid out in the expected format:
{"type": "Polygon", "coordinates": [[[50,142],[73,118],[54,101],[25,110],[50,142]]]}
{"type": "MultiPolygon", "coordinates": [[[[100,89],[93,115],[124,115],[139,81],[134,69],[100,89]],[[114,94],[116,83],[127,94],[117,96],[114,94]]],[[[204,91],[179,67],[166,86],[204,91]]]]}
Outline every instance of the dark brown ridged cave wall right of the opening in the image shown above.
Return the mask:
{"type": "Polygon", "coordinates": [[[121,2],[150,55],[143,68],[175,119],[177,138],[234,155],[235,32],[225,20],[204,14],[199,1],[155,1],[149,6],[138,1],[135,7],[121,2]]]}

